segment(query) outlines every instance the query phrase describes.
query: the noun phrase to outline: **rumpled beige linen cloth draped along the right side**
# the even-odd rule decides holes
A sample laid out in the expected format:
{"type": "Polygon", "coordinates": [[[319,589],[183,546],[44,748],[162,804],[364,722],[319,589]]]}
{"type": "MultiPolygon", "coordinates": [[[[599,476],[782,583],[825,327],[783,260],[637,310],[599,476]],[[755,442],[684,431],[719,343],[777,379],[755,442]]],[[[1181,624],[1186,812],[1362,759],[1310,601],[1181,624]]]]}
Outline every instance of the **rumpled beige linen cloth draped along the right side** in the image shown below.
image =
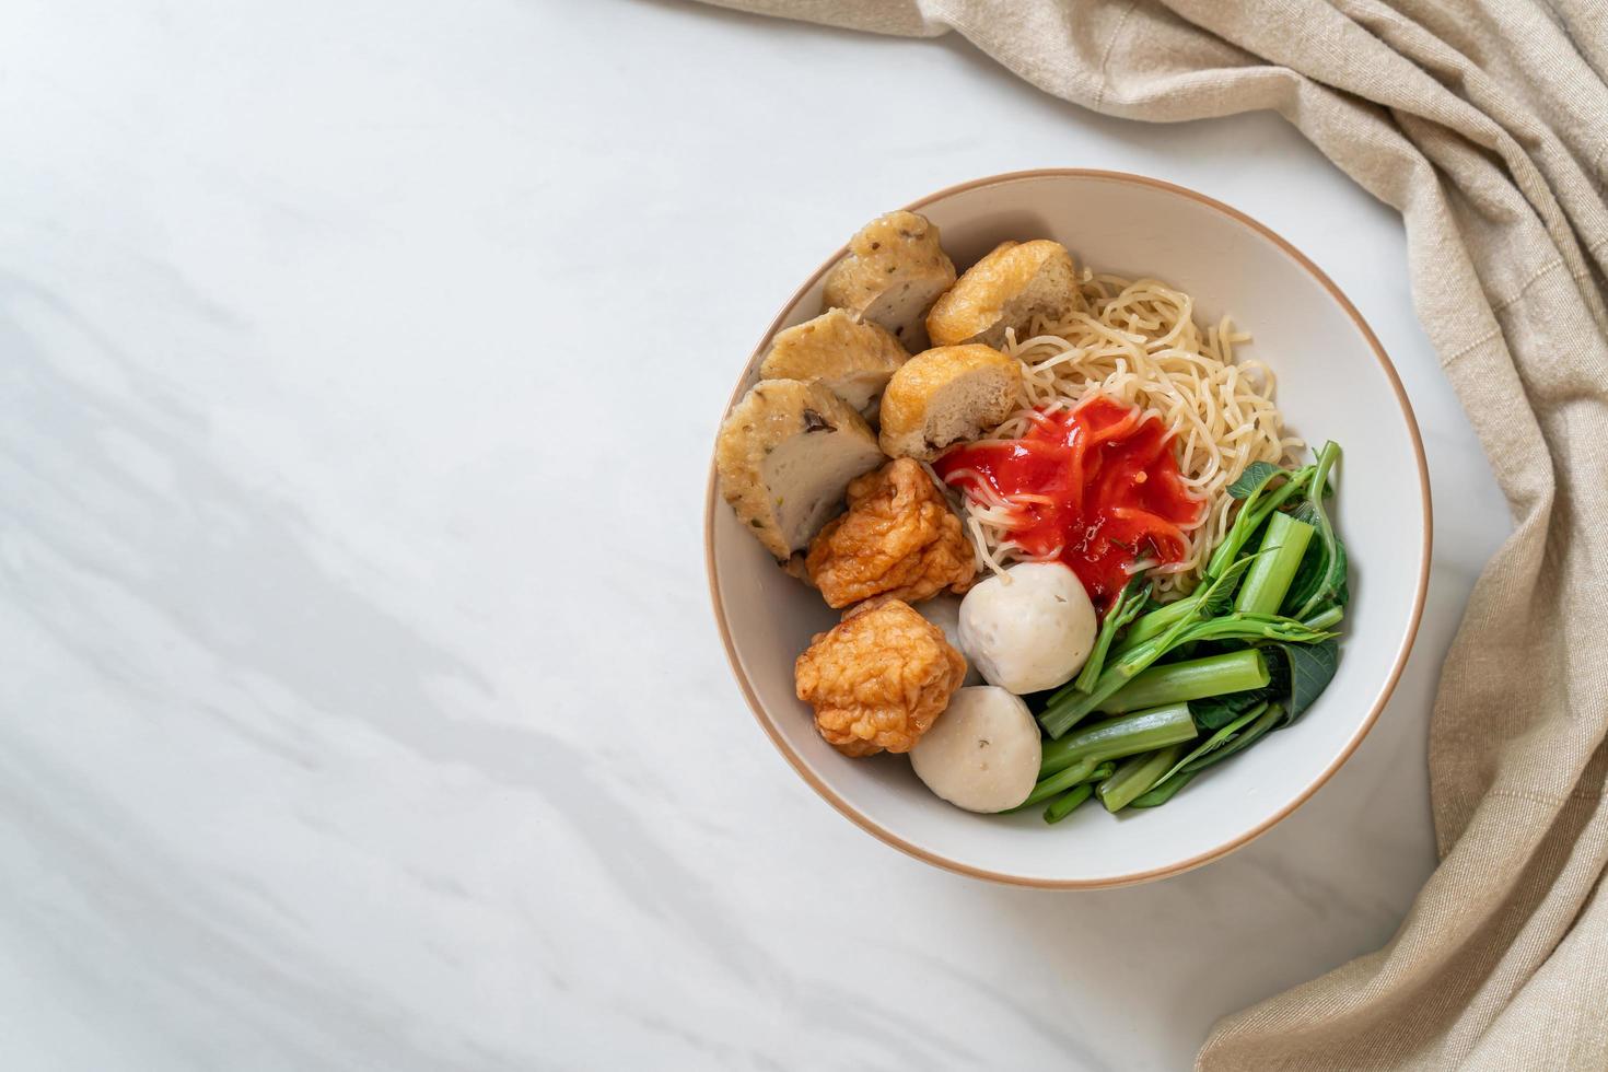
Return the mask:
{"type": "Polygon", "coordinates": [[[1608,1069],[1608,5],[716,0],[958,32],[1111,116],[1272,108],[1402,212],[1513,509],[1430,728],[1441,866],[1391,943],[1219,1022],[1201,1069],[1608,1069]]]}

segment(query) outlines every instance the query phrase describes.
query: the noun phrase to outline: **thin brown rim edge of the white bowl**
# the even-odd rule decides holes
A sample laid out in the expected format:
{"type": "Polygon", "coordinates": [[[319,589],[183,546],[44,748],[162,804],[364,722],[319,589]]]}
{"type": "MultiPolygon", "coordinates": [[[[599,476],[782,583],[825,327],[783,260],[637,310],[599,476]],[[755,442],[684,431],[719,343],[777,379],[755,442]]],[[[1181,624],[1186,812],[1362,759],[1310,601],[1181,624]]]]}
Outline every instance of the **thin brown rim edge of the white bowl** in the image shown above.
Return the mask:
{"type": "MultiPolygon", "coordinates": [[[[913,845],[904,837],[881,826],[876,820],[865,815],[862,810],[859,810],[847,800],[844,800],[838,792],[835,792],[820,778],[817,778],[815,773],[804,763],[802,757],[799,757],[799,754],[781,736],[775,722],[764,709],[764,706],[759,702],[759,696],[756,696],[754,686],[753,683],[749,683],[748,675],[743,672],[743,664],[736,657],[736,646],[732,641],[732,630],[725,619],[725,604],[720,596],[720,585],[719,580],[716,579],[714,519],[716,519],[716,503],[720,501],[720,497],[716,489],[717,477],[716,477],[716,463],[712,448],[709,456],[708,489],[704,492],[704,574],[709,582],[709,601],[714,608],[714,619],[716,619],[716,627],[720,632],[720,643],[725,646],[727,662],[730,664],[732,675],[736,678],[736,685],[743,693],[743,699],[748,701],[748,709],[754,714],[754,718],[765,731],[765,736],[770,738],[770,743],[775,746],[778,752],[781,752],[781,757],[788,762],[788,765],[793,767],[793,770],[810,786],[810,789],[814,789],[823,800],[827,800],[831,807],[835,807],[844,818],[847,818],[851,823],[863,829],[867,834],[876,837],[883,844],[892,845],[894,849],[899,849],[900,852],[915,857],[917,860],[942,868],[946,871],[954,871],[957,874],[966,874],[970,878],[987,879],[1007,886],[1026,886],[1034,889],[1113,889],[1118,886],[1135,886],[1138,882],[1151,882],[1156,879],[1183,874],[1185,871],[1193,871],[1198,866],[1219,860],[1229,855],[1230,852],[1235,852],[1237,849],[1243,849],[1245,845],[1251,844],[1253,841],[1265,834],[1275,824],[1288,818],[1302,804],[1306,804],[1312,797],[1312,794],[1315,794],[1323,786],[1323,783],[1333,778],[1335,771],[1338,771],[1341,765],[1348,759],[1351,759],[1351,755],[1357,751],[1357,746],[1362,744],[1362,739],[1378,722],[1380,712],[1384,710],[1384,704],[1389,702],[1391,693],[1396,691],[1396,683],[1401,680],[1402,670],[1407,665],[1407,656],[1412,653],[1413,641],[1418,636],[1418,625],[1423,619],[1425,599],[1430,588],[1430,554],[1431,554],[1431,546],[1434,543],[1434,514],[1433,514],[1433,503],[1430,498],[1430,466],[1428,460],[1425,458],[1423,436],[1418,432],[1418,418],[1413,415],[1412,402],[1407,397],[1405,387],[1402,387],[1401,376],[1396,373],[1396,365],[1384,352],[1384,347],[1380,344],[1378,336],[1373,334],[1373,328],[1368,326],[1368,321],[1364,320],[1362,313],[1357,312],[1357,307],[1351,304],[1351,299],[1346,297],[1344,291],[1341,291],[1339,286],[1336,286],[1335,281],[1328,278],[1328,275],[1325,275],[1325,272],[1319,268],[1311,257],[1296,249],[1294,244],[1291,244],[1286,238],[1278,235],[1274,228],[1267,227],[1261,220],[1246,215],[1245,212],[1235,209],[1233,206],[1224,204],[1222,201],[1209,198],[1196,190],[1190,190],[1188,186],[1180,186],[1177,183],[1171,183],[1161,178],[1151,178],[1148,175],[1135,175],[1132,172],[1103,170],[1090,167],[1037,167],[1029,170],[1000,172],[997,175],[986,175],[982,178],[973,178],[970,182],[944,186],[936,193],[929,193],[925,198],[912,201],[910,204],[904,206],[904,209],[913,212],[923,209],[925,206],[934,201],[941,201],[944,198],[965,193],[968,190],[978,190],[982,186],[1000,186],[1032,178],[1093,178],[1103,182],[1150,186],[1153,190],[1161,190],[1163,193],[1188,198],[1190,201],[1196,201],[1216,212],[1220,212],[1222,215],[1227,215],[1229,219],[1251,228],[1262,238],[1272,241],[1285,254],[1288,254],[1298,265],[1301,265],[1301,268],[1304,268],[1314,280],[1317,280],[1317,283],[1320,283],[1323,289],[1328,291],[1330,297],[1335,299],[1335,302],[1346,312],[1346,315],[1351,317],[1352,323],[1357,325],[1357,329],[1362,333],[1362,338],[1368,342],[1368,347],[1373,350],[1375,358],[1378,358],[1380,368],[1384,371],[1386,381],[1396,392],[1396,402],[1401,405],[1402,418],[1407,421],[1407,432],[1409,437],[1412,439],[1413,461],[1418,468],[1418,495],[1423,501],[1423,543],[1418,550],[1418,587],[1417,591],[1413,593],[1412,616],[1410,620],[1407,622],[1407,632],[1402,635],[1402,643],[1396,651],[1396,661],[1393,662],[1391,672],[1386,675],[1384,683],[1380,686],[1378,696],[1375,696],[1373,706],[1368,709],[1367,718],[1362,720],[1362,725],[1357,726],[1357,731],[1351,736],[1351,739],[1339,751],[1339,754],[1336,754],[1335,759],[1328,763],[1328,767],[1319,771],[1319,775],[1306,788],[1302,788],[1301,792],[1298,792],[1296,797],[1290,800],[1290,804],[1286,804],[1283,808],[1280,808],[1269,818],[1262,820],[1254,828],[1245,831],[1238,837],[1233,837],[1220,845],[1214,845],[1206,852],[1196,853],[1187,860],[1180,860],[1167,866],[1151,868],[1148,871],[1135,871],[1129,874],[1114,874],[1100,879],[1048,879],[1048,878],[1034,878],[1034,876],[1011,874],[1007,871],[992,871],[989,868],[979,868],[965,863],[962,860],[954,860],[942,853],[933,852],[929,849],[923,849],[921,845],[913,845]]],[[[804,284],[793,293],[793,297],[790,297],[786,304],[783,304],[781,310],[777,313],[775,320],[770,321],[770,326],[761,338],[759,346],[749,355],[748,363],[743,366],[745,374],[738,378],[736,386],[732,389],[732,397],[727,399],[725,410],[722,410],[722,421],[725,419],[725,415],[732,411],[732,407],[736,405],[738,395],[743,391],[743,383],[748,379],[746,376],[748,368],[753,366],[754,360],[759,357],[759,352],[770,342],[775,333],[781,328],[781,323],[783,320],[786,320],[788,312],[794,305],[798,305],[799,299],[802,299],[804,294],[812,286],[815,286],[815,283],[835,264],[838,264],[838,260],[847,252],[847,249],[849,249],[847,243],[839,246],[818,268],[815,268],[815,272],[810,273],[810,276],[804,281],[804,284]]]]}

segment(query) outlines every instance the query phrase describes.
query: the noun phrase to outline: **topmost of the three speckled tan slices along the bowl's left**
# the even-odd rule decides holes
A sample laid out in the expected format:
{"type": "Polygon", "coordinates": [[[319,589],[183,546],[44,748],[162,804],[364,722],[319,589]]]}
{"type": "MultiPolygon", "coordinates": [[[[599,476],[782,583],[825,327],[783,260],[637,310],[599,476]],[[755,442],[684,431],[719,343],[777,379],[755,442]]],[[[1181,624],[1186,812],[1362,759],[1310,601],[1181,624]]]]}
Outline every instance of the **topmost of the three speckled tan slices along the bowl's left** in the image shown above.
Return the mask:
{"type": "Polygon", "coordinates": [[[881,325],[913,354],[926,347],[926,310],[954,283],[937,227],[915,212],[889,212],[849,239],[849,256],[827,273],[822,305],[881,325]]]}

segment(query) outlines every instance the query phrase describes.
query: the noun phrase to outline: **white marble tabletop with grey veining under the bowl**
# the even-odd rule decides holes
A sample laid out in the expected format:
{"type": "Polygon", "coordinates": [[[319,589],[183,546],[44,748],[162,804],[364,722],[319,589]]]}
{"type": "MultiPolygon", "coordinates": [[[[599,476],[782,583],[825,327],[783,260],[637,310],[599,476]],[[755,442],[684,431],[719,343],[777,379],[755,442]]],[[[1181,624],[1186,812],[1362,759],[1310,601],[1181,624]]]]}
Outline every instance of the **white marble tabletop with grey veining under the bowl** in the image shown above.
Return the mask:
{"type": "Polygon", "coordinates": [[[1433,866],[1430,696],[1507,511],[1396,215],[1278,119],[1118,122],[954,42],[648,0],[34,0],[0,143],[8,1070],[1177,1069],[1433,866]],[[1093,895],[817,800],[701,572],[781,297],[888,206],[1061,164],[1311,252],[1396,357],[1439,530],[1356,759],[1093,895]]]}

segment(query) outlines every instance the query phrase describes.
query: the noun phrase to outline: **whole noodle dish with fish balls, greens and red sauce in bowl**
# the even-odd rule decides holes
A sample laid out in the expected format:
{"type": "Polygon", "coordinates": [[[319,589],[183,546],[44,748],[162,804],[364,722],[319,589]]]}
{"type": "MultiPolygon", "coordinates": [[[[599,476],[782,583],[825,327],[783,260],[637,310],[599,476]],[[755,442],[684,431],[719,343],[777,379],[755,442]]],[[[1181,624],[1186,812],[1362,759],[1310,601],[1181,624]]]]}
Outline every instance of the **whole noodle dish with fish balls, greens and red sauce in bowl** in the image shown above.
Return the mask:
{"type": "Polygon", "coordinates": [[[1166,804],[1294,723],[1349,599],[1339,447],[1158,280],[1007,241],[963,273],[891,212],[773,336],[720,492],[843,617],[798,698],[847,757],[909,752],[971,812],[1166,804]]]}

